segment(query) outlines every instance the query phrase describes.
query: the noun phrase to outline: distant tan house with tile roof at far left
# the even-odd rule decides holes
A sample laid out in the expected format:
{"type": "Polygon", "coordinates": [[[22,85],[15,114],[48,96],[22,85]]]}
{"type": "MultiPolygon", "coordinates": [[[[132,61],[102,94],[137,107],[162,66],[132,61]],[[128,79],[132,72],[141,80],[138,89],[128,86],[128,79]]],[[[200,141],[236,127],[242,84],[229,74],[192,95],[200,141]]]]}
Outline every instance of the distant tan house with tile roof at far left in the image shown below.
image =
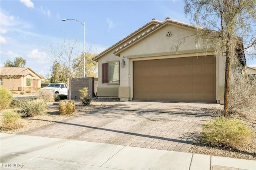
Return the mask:
{"type": "Polygon", "coordinates": [[[0,85],[11,91],[36,90],[41,87],[42,78],[29,67],[0,68],[0,85]]]}

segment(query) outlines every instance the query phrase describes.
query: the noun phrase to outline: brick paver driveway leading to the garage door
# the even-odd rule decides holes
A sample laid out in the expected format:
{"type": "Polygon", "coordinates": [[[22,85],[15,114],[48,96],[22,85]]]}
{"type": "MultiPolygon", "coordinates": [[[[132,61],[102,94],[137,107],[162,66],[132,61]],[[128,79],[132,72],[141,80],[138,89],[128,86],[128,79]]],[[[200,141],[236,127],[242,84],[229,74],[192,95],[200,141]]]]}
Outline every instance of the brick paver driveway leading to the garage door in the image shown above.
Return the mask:
{"type": "Polygon", "coordinates": [[[21,134],[188,152],[218,104],[120,102],[21,134]]]}

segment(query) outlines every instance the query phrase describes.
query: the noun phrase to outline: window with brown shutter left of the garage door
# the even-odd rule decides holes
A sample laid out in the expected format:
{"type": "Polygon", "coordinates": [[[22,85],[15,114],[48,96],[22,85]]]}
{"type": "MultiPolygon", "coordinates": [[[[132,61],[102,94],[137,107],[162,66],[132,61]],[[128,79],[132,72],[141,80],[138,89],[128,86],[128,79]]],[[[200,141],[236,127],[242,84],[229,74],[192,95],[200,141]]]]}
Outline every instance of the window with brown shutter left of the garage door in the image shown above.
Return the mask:
{"type": "Polygon", "coordinates": [[[102,83],[120,83],[120,62],[102,63],[102,83]]]}

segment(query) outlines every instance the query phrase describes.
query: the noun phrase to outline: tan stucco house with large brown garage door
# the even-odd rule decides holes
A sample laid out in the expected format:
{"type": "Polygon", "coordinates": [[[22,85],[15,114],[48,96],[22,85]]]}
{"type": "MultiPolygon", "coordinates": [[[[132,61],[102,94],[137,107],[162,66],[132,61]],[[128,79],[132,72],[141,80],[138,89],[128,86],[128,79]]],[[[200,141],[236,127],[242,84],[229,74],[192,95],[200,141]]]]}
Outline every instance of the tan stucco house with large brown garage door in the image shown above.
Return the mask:
{"type": "Polygon", "coordinates": [[[93,58],[98,61],[97,96],[223,104],[226,57],[215,56],[214,49],[205,57],[196,48],[195,34],[194,26],[169,18],[140,27],[93,58]]]}

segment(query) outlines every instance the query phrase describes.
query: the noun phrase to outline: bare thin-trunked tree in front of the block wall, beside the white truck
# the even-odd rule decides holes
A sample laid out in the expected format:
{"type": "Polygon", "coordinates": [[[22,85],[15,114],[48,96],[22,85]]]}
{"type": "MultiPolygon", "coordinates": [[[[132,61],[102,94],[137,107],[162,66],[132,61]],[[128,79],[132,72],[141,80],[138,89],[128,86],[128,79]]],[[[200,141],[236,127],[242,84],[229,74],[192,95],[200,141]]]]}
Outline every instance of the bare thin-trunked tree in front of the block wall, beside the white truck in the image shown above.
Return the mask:
{"type": "MultiPolygon", "coordinates": [[[[56,69],[56,74],[63,74],[69,78],[69,96],[71,99],[71,78],[74,78],[79,70],[79,65],[74,65],[74,60],[80,55],[79,45],[77,39],[64,38],[63,42],[59,42],[57,47],[50,44],[48,51],[48,56],[50,57],[53,64],[58,63],[58,69],[56,69]]],[[[78,61],[81,62],[81,61],[78,61]]]]}

